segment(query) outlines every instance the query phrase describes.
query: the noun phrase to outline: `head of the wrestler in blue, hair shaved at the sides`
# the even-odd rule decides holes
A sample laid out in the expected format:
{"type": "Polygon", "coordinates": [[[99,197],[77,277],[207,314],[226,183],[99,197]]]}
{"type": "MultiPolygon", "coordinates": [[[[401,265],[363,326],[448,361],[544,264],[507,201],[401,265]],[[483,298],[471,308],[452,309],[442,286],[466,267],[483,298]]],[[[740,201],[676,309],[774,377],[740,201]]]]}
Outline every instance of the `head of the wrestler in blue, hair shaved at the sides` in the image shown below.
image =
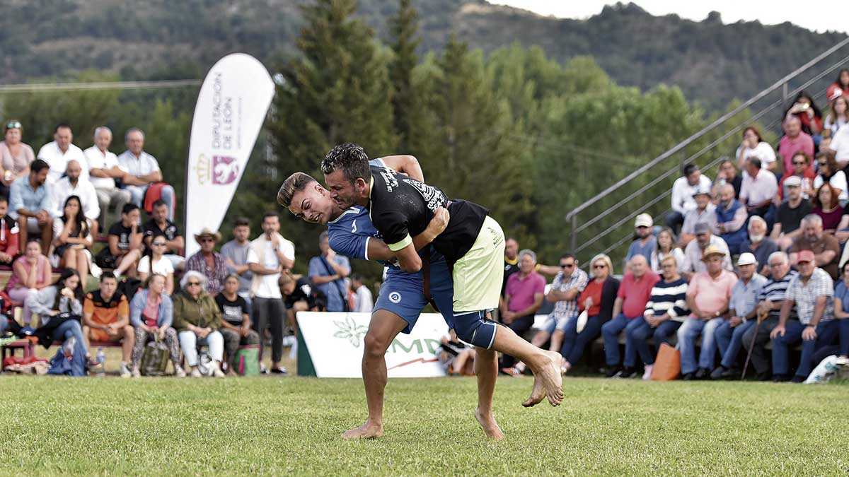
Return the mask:
{"type": "Polygon", "coordinates": [[[341,210],[330,198],[330,191],[303,172],[286,178],[278,190],[277,201],[296,217],[310,223],[330,222],[341,210]]]}

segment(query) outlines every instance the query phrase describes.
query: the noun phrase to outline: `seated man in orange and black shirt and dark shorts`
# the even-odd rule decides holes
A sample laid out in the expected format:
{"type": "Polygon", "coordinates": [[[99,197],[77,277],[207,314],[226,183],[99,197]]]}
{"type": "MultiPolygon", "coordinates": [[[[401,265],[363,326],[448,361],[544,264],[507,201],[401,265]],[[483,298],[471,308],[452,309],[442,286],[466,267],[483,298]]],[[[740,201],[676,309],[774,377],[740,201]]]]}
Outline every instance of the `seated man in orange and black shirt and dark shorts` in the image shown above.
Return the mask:
{"type": "Polygon", "coordinates": [[[92,340],[100,343],[121,343],[121,378],[129,378],[133,338],[136,331],[130,324],[130,303],[118,291],[118,280],[110,272],[100,277],[100,289],[86,295],[82,306],[82,334],[86,348],[92,340]]]}

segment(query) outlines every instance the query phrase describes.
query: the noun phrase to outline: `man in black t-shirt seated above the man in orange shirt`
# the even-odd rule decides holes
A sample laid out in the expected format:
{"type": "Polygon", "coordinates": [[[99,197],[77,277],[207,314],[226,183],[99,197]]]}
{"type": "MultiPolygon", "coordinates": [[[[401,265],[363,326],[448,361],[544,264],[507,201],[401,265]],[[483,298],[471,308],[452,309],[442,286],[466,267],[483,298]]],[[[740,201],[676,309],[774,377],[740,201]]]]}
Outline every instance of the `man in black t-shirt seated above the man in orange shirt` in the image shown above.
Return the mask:
{"type": "Polygon", "coordinates": [[[127,273],[136,274],[136,264],[142,256],[142,231],[138,228],[138,206],[124,205],[121,210],[121,222],[115,222],[109,229],[109,246],[98,254],[98,265],[114,268],[115,277],[127,273]]]}

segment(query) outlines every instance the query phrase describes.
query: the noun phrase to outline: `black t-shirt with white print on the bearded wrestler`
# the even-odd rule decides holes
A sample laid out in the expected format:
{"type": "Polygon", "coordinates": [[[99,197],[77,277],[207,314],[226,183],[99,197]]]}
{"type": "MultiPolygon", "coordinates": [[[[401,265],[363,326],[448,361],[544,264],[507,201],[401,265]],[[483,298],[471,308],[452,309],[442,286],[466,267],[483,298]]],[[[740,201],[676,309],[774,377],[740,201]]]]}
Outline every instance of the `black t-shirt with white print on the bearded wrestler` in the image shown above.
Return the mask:
{"type": "Polygon", "coordinates": [[[429,186],[388,167],[371,166],[372,184],[368,208],[374,228],[386,244],[403,244],[422,233],[439,207],[448,208],[451,219],[433,247],[448,263],[458,261],[475,244],[489,210],[462,199],[448,198],[429,186]]]}

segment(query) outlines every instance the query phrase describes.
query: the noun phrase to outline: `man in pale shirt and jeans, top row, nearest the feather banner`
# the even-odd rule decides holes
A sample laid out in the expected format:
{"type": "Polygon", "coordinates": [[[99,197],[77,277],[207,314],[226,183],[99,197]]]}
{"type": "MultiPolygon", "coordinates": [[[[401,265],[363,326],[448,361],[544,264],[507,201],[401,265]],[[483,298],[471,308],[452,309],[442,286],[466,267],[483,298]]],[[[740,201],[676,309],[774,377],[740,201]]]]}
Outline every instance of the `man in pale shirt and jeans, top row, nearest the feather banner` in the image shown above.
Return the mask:
{"type": "MultiPolygon", "coordinates": [[[[162,171],[156,158],[144,152],[144,133],[138,127],[131,127],[124,137],[127,150],[118,156],[118,166],[127,171],[121,182],[129,191],[132,203],[143,206],[144,194],[151,184],[162,182],[162,171]]],[[[165,185],[161,190],[161,199],[168,205],[168,219],[174,220],[174,188],[165,185]]]]}

